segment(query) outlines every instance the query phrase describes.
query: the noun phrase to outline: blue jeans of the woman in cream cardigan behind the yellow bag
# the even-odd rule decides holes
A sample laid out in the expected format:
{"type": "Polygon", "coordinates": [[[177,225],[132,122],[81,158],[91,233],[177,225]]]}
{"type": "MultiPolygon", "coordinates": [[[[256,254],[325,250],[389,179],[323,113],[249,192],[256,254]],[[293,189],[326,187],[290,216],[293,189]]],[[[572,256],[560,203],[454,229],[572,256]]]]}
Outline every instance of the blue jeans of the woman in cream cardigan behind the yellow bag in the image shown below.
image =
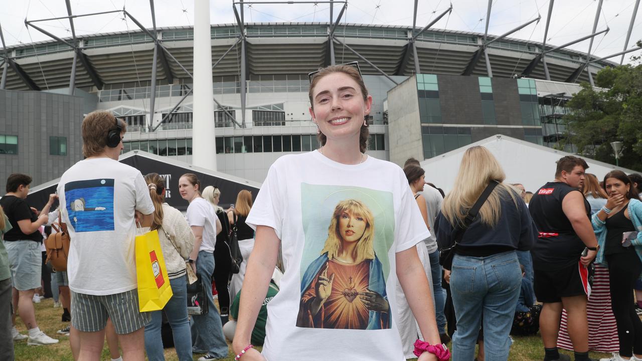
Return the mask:
{"type": "Polygon", "coordinates": [[[145,351],[150,361],[164,361],[162,337],[162,313],[165,312],[174,337],[174,347],[179,361],[193,361],[192,336],[187,317],[186,276],[169,280],[173,296],[162,310],[152,312],[152,321],[145,326],[145,351]]]}

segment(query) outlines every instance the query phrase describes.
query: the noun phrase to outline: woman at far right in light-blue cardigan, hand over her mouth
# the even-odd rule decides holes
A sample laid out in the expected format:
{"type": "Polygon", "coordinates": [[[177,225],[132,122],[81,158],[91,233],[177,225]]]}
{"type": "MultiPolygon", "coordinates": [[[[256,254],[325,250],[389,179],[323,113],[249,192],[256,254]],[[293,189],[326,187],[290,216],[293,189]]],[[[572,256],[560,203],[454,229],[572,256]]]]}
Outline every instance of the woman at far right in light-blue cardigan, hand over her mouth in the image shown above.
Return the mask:
{"type": "Polygon", "coordinates": [[[598,236],[595,262],[609,268],[611,308],[618,325],[620,354],[612,360],[632,360],[633,355],[638,360],[642,358],[642,322],[635,312],[633,287],[642,272],[642,202],[620,170],[607,173],[604,186],[609,200],[593,215],[593,229],[598,236]]]}

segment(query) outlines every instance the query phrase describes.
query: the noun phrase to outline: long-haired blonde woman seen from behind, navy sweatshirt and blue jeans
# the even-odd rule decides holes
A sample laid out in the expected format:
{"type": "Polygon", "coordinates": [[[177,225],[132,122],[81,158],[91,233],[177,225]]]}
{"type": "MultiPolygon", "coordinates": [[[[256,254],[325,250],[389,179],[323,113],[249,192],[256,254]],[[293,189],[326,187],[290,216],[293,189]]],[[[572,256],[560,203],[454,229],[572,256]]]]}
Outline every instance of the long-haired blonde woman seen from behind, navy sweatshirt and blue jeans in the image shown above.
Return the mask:
{"type": "Polygon", "coordinates": [[[516,251],[532,247],[537,229],[519,194],[503,183],[505,178],[489,150],[483,146],[468,148],[453,190],[444,198],[442,213],[435,222],[440,248],[449,247],[456,238],[455,225],[464,223],[490,182],[499,182],[465,230],[453,258],[450,287],[457,318],[454,361],[473,360],[482,322],[485,356],[508,359],[508,333],[522,279],[516,251]]]}

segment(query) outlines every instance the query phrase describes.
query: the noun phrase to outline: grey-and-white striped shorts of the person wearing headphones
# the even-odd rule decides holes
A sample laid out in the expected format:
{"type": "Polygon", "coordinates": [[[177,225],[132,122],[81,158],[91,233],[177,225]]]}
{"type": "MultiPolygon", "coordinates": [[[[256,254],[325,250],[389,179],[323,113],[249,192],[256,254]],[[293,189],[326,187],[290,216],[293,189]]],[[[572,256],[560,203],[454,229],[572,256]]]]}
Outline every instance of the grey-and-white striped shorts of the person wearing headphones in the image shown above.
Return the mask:
{"type": "Polygon", "coordinates": [[[138,290],[113,295],[87,295],[71,291],[71,324],[78,331],[103,330],[112,319],[116,333],[125,335],[143,328],[152,320],[149,312],[139,312],[138,290]]]}

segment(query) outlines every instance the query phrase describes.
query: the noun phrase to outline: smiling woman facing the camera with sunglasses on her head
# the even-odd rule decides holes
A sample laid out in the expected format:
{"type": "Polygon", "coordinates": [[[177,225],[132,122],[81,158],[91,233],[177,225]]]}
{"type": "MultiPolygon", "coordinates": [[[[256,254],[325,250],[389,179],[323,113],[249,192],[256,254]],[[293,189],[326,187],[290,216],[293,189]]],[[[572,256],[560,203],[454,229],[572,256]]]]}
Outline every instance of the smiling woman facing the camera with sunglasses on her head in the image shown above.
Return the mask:
{"type": "Polygon", "coordinates": [[[247,218],[247,224],[256,227],[256,243],[241,291],[234,353],[242,361],[404,360],[395,322],[390,322],[390,315],[394,315],[390,312],[397,307],[398,277],[428,341],[415,344],[419,360],[435,361],[435,354],[447,360],[445,346],[439,345],[432,299],[425,296],[430,292],[428,280],[415,248],[428,236],[428,229],[401,169],[363,154],[369,135],[365,117],[370,113],[372,97],[358,69],[347,64],[326,67],[311,73],[310,78],[309,112],[318,126],[322,146],[306,154],[285,155],[272,164],[247,218]],[[353,247],[363,240],[352,222],[360,222],[365,228],[368,217],[361,214],[364,211],[345,212],[340,219],[350,221],[345,224],[344,242],[336,251],[340,260],[335,263],[346,264],[334,271],[333,265],[328,265],[329,258],[318,258],[325,253],[327,234],[336,228],[333,209],[344,200],[358,200],[370,209],[370,225],[376,225],[376,229],[372,252],[369,247],[353,247]],[[252,348],[250,335],[277,262],[279,245],[286,269],[281,290],[268,307],[261,354],[252,348]],[[369,254],[369,258],[361,258],[361,254],[369,254]],[[367,269],[361,267],[363,259],[369,263],[367,269]],[[311,283],[316,283],[313,297],[318,295],[318,299],[302,304],[302,296],[311,290],[308,269],[308,275],[313,274],[311,283]],[[342,290],[338,283],[345,285],[342,290]],[[357,290],[366,283],[365,290],[357,290]],[[327,295],[324,302],[321,295],[327,295]],[[360,315],[347,317],[358,322],[334,319],[333,315],[343,317],[347,313],[331,312],[330,300],[351,309],[349,314],[360,315]],[[367,320],[361,317],[364,309],[367,320]],[[315,327],[298,327],[301,313],[307,315],[304,324],[315,327]],[[331,328],[317,328],[317,321],[331,328]],[[355,329],[364,325],[365,330],[355,329]]]}

